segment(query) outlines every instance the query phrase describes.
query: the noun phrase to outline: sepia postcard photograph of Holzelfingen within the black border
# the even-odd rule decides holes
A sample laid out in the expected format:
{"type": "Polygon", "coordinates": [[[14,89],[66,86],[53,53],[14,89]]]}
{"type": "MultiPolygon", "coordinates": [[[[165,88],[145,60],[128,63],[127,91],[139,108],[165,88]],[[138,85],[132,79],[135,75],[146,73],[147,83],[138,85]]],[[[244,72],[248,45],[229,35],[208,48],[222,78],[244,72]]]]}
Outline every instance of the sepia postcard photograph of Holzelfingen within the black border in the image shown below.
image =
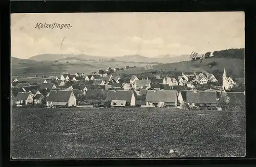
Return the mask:
{"type": "Polygon", "coordinates": [[[13,13],[11,158],[244,157],[244,12],[13,13]]]}

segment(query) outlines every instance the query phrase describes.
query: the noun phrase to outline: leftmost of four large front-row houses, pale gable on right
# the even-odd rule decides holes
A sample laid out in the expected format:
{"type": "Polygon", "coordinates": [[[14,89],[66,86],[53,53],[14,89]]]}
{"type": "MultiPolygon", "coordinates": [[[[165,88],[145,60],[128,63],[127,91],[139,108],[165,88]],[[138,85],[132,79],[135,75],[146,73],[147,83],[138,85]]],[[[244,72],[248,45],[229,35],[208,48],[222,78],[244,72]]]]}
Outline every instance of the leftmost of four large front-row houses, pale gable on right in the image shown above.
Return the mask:
{"type": "Polygon", "coordinates": [[[76,97],[71,90],[51,90],[46,100],[48,107],[53,106],[76,106],[76,97]]]}

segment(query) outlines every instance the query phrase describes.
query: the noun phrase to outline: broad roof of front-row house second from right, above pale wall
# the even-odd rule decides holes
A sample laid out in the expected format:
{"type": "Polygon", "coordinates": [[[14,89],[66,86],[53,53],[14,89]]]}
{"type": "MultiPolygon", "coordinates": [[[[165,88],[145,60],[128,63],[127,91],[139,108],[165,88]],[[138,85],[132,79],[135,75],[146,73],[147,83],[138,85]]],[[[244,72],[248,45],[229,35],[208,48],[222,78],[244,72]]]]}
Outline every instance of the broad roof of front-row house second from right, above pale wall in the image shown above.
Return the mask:
{"type": "Polygon", "coordinates": [[[146,102],[176,102],[176,93],[173,90],[147,90],[146,102]]]}

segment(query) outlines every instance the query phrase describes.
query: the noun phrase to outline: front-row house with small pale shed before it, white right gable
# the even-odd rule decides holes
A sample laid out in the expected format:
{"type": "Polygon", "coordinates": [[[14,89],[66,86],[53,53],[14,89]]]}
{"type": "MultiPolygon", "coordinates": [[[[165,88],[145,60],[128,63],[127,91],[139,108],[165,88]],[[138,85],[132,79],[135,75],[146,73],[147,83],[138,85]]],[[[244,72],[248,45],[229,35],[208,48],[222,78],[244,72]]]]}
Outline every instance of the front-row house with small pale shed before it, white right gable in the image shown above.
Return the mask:
{"type": "Polygon", "coordinates": [[[120,104],[123,106],[135,106],[136,98],[132,90],[109,90],[106,94],[106,102],[111,102],[112,106],[120,104]],[[113,101],[114,100],[114,101],[113,101]]]}

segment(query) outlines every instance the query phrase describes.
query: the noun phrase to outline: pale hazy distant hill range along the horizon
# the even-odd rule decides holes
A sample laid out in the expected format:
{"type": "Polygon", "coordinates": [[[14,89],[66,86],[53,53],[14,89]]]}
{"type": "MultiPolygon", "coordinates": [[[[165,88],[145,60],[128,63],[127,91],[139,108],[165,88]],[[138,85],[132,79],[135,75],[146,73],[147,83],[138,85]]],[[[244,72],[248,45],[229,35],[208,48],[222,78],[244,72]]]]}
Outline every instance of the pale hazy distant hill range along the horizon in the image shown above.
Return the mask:
{"type": "Polygon", "coordinates": [[[42,54],[36,55],[29,60],[36,61],[55,61],[55,60],[105,60],[105,61],[123,61],[123,62],[159,62],[159,63],[170,63],[189,60],[189,55],[181,56],[156,56],[156,58],[145,57],[141,55],[125,55],[120,57],[103,57],[103,56],[89,56],[89,55],[74,55],[74,54],[42,54]]]}

